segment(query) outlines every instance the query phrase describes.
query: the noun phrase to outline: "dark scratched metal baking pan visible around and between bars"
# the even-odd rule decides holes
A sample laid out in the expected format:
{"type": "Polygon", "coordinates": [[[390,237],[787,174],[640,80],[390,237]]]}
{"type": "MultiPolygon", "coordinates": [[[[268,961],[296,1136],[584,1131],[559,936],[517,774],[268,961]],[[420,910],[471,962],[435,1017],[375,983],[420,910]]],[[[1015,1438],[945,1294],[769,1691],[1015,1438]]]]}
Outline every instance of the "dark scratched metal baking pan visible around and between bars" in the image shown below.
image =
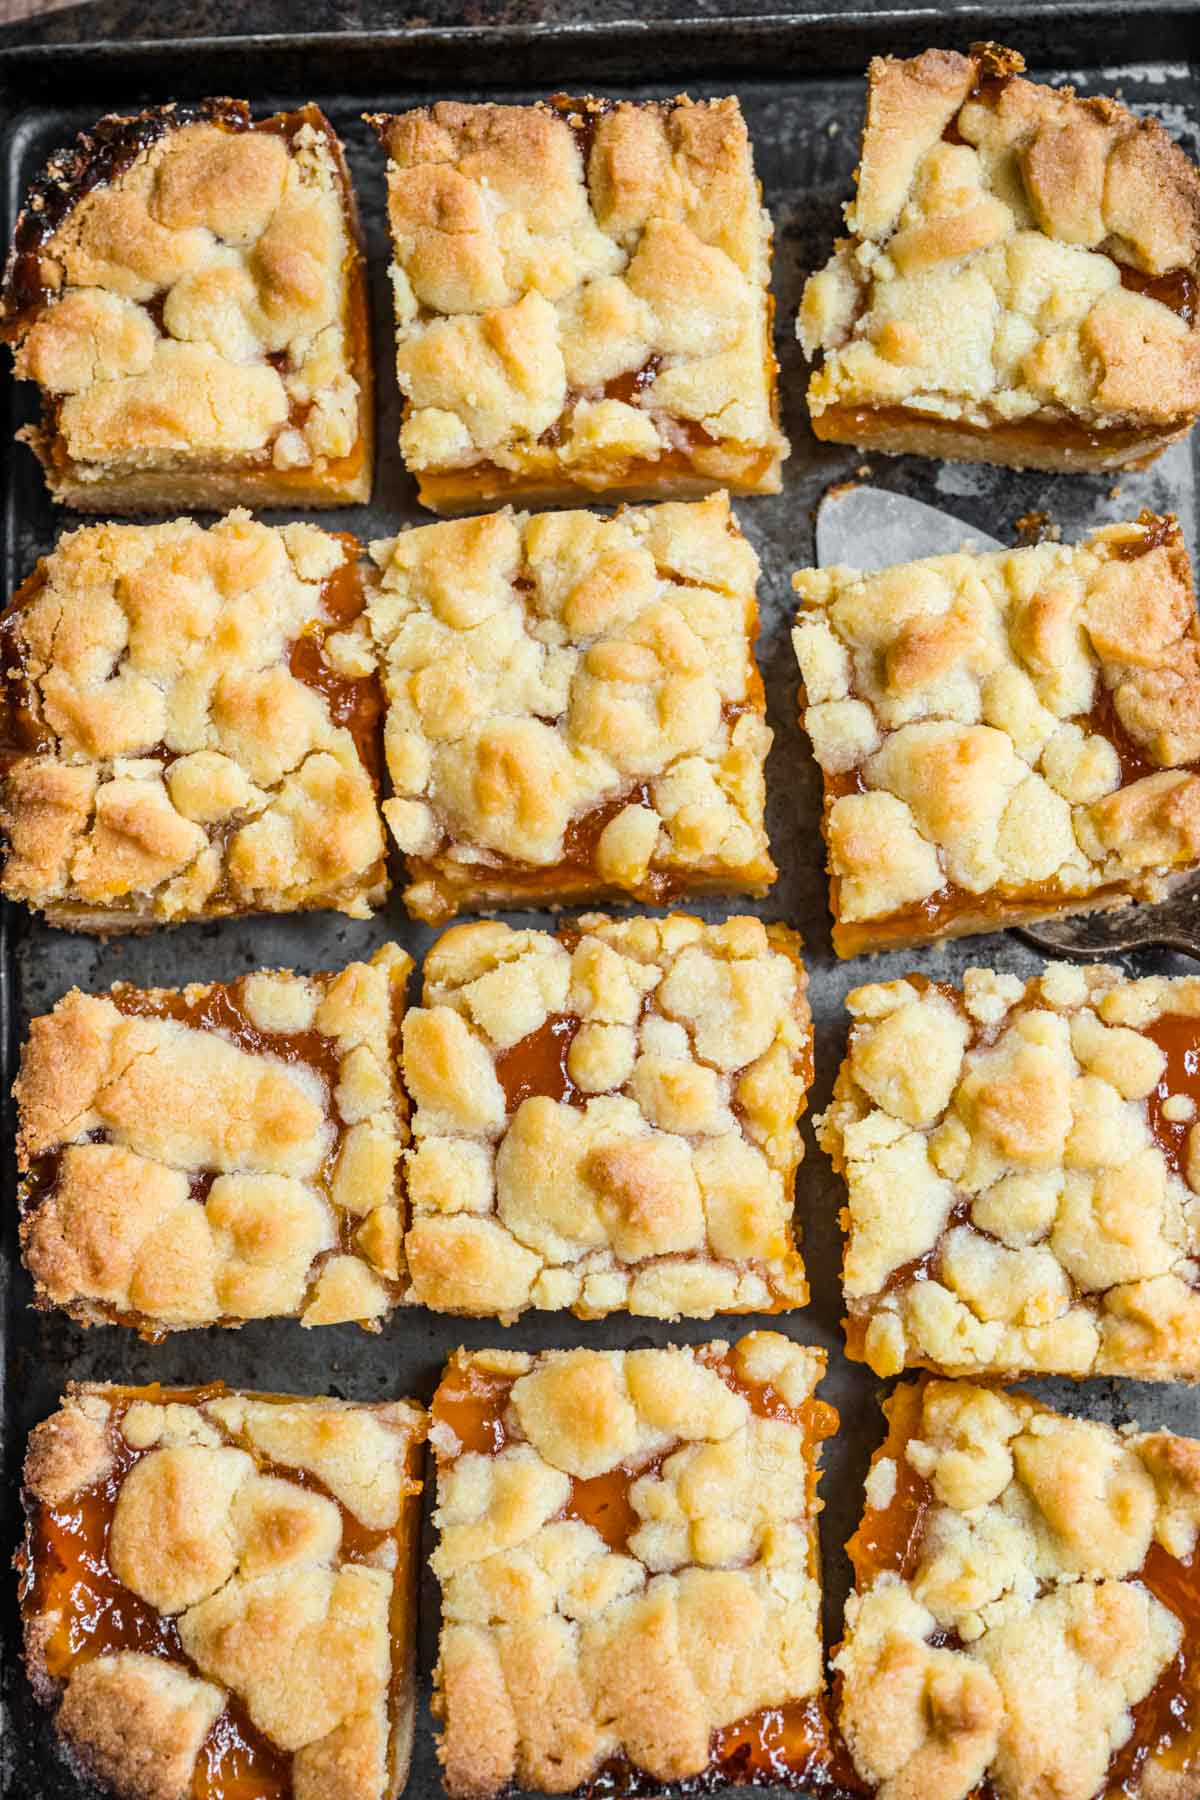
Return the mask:
{"type": "MultiPolygon", "coordinates": [[[[829,1098],[844,1042],[842,999],[855,983],[921,968],[959,979],[972,963],[991,963],[1018,974],[1040,967],[1038,954],[1015,934],[973,938],[919,952],[898,952],[858,963],[837,963],[829,949],[829,920],[817,830],[819,779],[795,725],[795,670],[788,644],[792,614],[788,574],[813,558],[813,509],[831,482],[855,479],[862,457],[853,450],[817,445],[804,414],[804,362],[793,338],[801,284],[822,263],[838,230],[840,202],[851,187],[862,121],[862,70],[880,52],[910,54],[930,41],[964,47],[995,38],[1024,50],[1038,77],[1070,79],[1083,92],[1121,92],[1137,110],[1157,112],[1168,130],[1196,155],[1200,151],[1200,81],[1191,67],[1200,47],[1200,0],[1169,0],[1155,9],[1124,4],[1045,7],[1040,16],[1007,16],[972,7],[957,16],[930,13],[842,13],[837,18],[779,16],[718,23],[511,27],[498,31],[414,31],[405,36],[344,34],[336,38],[250,38],[236,43],[92,45],[79,49],[14,50],[0,54],[0,194],[4,236],[23,184],[45,155],[65,144],[99,113],[153,101],[203,94],[246,95],[255,110],[270,112],[300,101],[318,101],[342,133],[367,227],[376,376],[380,398],[380,461],[374,500],[329,517],[329,524],[362,538],[423,522],[414,488],[399,466],[396,445],[398,394],[390,358],[387,293],[383,169],[363,110],[403,108],[437,97],[529,99],[572,88],[617,95],[693,94],[741,95],[756,144],[766,203],[775,220],[777,351],[783,365],[784,425],[793,452],[777,499],[741,502],[738,511],[761,562],[763,635],[759,661],[766,682],[775,749],[768,767],[772,848],[781,868],[770,896],[754,905],[765,918],[788,920],[804,932],[817,1022],[817,1085],[811,1111],[829,1098]]],[[[7,383],[0,394],[0,567],[11,594],[34,558],[49,551],[56,533],[70,524],[41,486],[32,455],[13,445],[13,432],[31,416],[31,396],[7,383]]],[[[1112,477],[1016,475],[1006,470],[957,468],[919,459],[871,459],[871,481],[954,511],[1013,542],[1015,522],[1047,511],[1074,538],[1105,520],[1135,515],[1141,506],[1180,515],[1195,547],[1196,477],[1187,445],[1175,446],[1153,468],[1112,477]]],[[[282,517],[282,515],[281,515],[282,517]]],[[[720,916],[721,907],[702,907],[720,916]]],[[[524,914],[549,923],[543,914],[524,914]]],[[[13,1057],[32,1013],[43,1012],[72,985],[103,988],[113,979],[182,983],[230,979],[261,965],[302,970],[338,967],[369,954],[387,938],[421,958],[430,932],[405,918],[399,900],[371,923],[336,914],[245,920],[158,931],[149,936],[95,943],[31,923],[11,913],[0,920],[0,1004],[11,1082],[13,1057]]],[[[1123,958],[1130,972],[1184,972],[1189,965],[1166,950],[1123,958]]],[[[85,1332],[54,1314],[29,1307],[31,1285],[16,1256],[16,1210],[11,1157],[11,1118],[4,1154],[4,1386],[5,1487],[0,1535],[18,1534],[18,1471],[25,1435],[54,1408],[70,1379],[122,1382],[201,1382],[221,1377],[230,1384],[335,1393],[362,1400],[412,1393],[428,1400],[446,1354],[459,1343],[506,1343],[536,1350],[585,1343],[630,1346],[639,1343],[703,1341],[738,1334],[756,1319],[676,1327],[612,1318],[578,1323],[569,1316],[531,1314],[511,1330],[488,1321],[457,1321],[412,1310],[398,1314],[380,1336],[354,1327],[302,1332],[290,1321],[261,1321],[245,1330],[178,1334],[148,1346],[119,1328],[85,1332]]],[[[844,1429],[826,1447],[822,1492],[826,1634],[837,1642],[847,1566],[842,1543],[860,1505],[862,1478],[880,1436],[878,1382],[842,1355],[837,1228],[838,1190],[806,1125],[808,1154],[799,1174],[797,1217],[811,1278],[811,1305],[774,1319],[775,1328],[829,1352],[824,1395],[838,1406],[844,1429]]],[[[1114,1382],[1043,1382],[1056,1404],[1108,1420],[1137,1417],[1144,1424],[1171,1424],[1200,1431],[1200,1400],[1186,1388],[1114,1382]]],[[[428,1548],[428,1532],[426,1532],[428,1548]]],[[[7,1559],[7,1550],[4,1552],[7,1559]]],[[[79,1784],[63,1768],[52,1735],[25,1685],[16,1620],[16,1589],[0,1580],[4,1631],[4,1697],[7,1723],[0,1737],[0,1793],[20,1800],[67,1800],[79,1784]]],[[[428,1717],[430,1669],[435,1654],[437,1595],[421,1582],[423,1697],[410,1795],[434,1800],[441,1793],[428,1717]]],[[[281,1654],[286,1647],[281,1645],[281,1654]]]]}

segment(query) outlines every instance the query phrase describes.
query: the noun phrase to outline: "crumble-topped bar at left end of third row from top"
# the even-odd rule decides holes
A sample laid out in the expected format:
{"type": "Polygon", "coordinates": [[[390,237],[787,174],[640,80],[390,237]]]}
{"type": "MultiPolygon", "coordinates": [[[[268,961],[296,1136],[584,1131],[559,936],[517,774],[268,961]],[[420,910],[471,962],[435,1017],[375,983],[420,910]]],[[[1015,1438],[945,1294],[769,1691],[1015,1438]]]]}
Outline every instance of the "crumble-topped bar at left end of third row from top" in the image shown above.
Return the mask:
{"type": "Polygon", "coordinates": [[[378,1330],[403,1289],[396,1073],[412,961],[77,988],[14,1084],[40,1307],[146,1337],[273,1316],[378,1330]]]}

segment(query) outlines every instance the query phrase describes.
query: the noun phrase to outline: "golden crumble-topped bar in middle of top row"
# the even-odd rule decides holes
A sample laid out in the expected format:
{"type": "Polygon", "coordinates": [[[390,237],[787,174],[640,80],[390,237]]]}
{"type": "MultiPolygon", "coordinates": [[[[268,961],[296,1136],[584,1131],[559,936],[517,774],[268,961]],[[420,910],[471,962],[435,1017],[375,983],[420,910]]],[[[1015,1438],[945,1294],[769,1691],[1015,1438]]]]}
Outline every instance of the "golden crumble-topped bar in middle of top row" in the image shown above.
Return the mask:
{"type": "Polygon", "coordinates": [[[779,493],[772,227],[736,99],[372,122],[425,506],[779,493]]]}

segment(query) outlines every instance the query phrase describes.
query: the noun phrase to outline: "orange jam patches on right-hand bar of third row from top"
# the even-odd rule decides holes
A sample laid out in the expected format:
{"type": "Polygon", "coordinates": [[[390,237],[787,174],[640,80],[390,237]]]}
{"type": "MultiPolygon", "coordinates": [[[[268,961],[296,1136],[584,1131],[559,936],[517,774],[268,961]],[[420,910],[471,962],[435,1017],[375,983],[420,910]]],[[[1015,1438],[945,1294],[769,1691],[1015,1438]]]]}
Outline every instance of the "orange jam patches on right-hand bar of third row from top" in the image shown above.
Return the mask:
{"type": "MultiPolygon", "coordinates": [[[[968,1028],[968,1040],[964,1055],[970,1057],[972,1051],[986,1049],[999,1031],[981,1026],[966,1008],[963,1006],[963,994],[946,981],[928,981],[925,976],[909,976],[910,986],[927,992],[934,988],[941,997],[954,1006],[963,1022],[968,1028]]],[[[1000,1031],[1007,1030],[1022,1012],[1029,1012],[1036,1001],[1022,1001],[1013,1006],[1002,1021],[1000,1031]]],[[[855,1044],[856,1026],[851,1028],[851,1049],[855,1044]]],[[[1142,1037],[1148,1037],[1166,1057],[1162,1075],[1159,1084],[1141,1103],[1146,1107],[1146,1123],[1150,1127],[1151,1141],[1162,1150],[1168,1168],[1186,1179],[1187,1154],[1189,1154],[1189,1132],[1195,1121],[1200,1121],[1200,1015],[1187,1013],[1162,1013],[1151,1024],[1137,1028],[1142,1037]],[[1168,1100],[1184,1100],[1191,1103],[1189,1116],[1184,1120],[1171,1120],[1166,1116],[1168,1100]]],[[[1139,1105],[1139,1102],[1126,1102],[1128,1105],[1139,1105]]],[[[1175,1109],[1173,1109],[1175,1111],[1175,1109]]],[[[1200,1163],[1200,1154],[1196,1157],[1200,1163]]],[[[855,1215],[846,1210],[844,1222],[847,1226],[849,1238],[855,1235],[855,1215]]],[[[957,1195],[946,1222],[937,1237],[937,1242],[930,1249],[923,1251],[919,1256],[912,1256],[909,1262],[900,1264],[887,1276],[887,1282],[876,1294],[865,1294],[862,1298],[847,1300],[847,1318],[846,1325],[846,1354],[855,1361],[867,1361],[865,1341],[867,1325],[873,1314],[880,1309],[880,1303],[891,1294],[903,1292],[921,1282],[939,1282],[941,1264],[946,1246],[946,1237],[959,1226],[970,1226],[970,1229],[982,1238],[997,1244],[1000,1242],[991,1231],[984,1231],[972,1219],[972,1197],[957,1195]]],[[[1099,1305],[1103,1301],[1105,1291],[1083,1291],[1076,1287],[1074,1280],[1067,1276],[1070,1285],[1070,1303],[1072,1305],[1099,1305]]]]}

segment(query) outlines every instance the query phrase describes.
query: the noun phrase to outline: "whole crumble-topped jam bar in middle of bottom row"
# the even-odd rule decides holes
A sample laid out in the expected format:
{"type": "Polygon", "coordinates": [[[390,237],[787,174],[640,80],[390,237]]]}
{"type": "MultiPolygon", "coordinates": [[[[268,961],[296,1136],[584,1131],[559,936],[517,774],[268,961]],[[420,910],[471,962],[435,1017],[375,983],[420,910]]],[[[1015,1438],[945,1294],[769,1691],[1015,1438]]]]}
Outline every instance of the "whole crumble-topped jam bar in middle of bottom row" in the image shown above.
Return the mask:
{"type": "Polygon", "coordinates": [[[452,1357],[430,1426],[452,1800],[824,1791],[824,1368],[775,1332],[452,1357]]]}

